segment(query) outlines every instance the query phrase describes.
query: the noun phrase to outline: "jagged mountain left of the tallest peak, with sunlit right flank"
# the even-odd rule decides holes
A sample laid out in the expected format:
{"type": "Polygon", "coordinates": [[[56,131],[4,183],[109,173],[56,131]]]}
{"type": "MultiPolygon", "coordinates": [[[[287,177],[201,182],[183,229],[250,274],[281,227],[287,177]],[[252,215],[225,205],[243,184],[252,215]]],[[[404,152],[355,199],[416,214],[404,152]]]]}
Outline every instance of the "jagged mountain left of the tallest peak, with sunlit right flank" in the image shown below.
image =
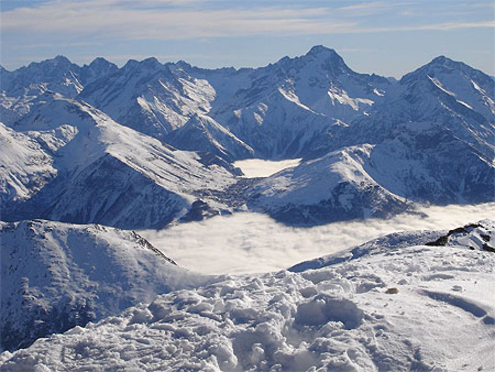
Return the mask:
{"type": "Polygon", "coordinates": [[[208,81],[156,58],[130,60],[106,79],[88,84],[80,98],[115,121],[158,139],[205,114],[215,98],[208,81]]]}

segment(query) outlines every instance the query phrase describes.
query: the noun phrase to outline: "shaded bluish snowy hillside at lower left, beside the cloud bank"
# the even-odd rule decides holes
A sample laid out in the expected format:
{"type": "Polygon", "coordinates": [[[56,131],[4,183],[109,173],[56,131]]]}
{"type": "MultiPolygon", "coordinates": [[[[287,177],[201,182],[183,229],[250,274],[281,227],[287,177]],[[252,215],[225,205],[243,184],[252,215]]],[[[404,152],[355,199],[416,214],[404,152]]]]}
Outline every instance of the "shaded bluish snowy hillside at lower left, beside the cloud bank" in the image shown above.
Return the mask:
{"type": "Polygon", "coordinates": [[[120,313],[197,285],[134,231],[43,220],[0,222],[1,348],[120,313]]]}

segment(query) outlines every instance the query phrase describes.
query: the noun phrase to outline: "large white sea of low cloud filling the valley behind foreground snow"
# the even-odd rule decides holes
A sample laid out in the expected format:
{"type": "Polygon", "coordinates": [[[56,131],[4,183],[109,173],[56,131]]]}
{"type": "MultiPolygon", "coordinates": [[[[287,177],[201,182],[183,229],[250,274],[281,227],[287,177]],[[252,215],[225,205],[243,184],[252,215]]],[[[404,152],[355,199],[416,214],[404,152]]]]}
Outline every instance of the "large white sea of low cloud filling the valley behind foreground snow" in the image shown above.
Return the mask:
{"type": "Polygon", "coordinates": [[[139,233],[178,265],[208,273],[254,273],[288,268],[396,231],[441,230],[495,216],[495,203],[423,207],[391,219],[290,227],[259,213],[236,213],[139,233]]]}

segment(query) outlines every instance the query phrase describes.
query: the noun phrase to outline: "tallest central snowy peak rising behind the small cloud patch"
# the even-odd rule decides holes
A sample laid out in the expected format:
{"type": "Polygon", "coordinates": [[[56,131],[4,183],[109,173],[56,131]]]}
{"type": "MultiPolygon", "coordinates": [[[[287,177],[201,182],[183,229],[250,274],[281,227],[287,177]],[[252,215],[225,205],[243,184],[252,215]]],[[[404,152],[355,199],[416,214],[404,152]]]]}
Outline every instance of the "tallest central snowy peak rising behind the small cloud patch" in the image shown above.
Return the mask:
{"type": "Polygon", "coordinates": [[[391,86],[352,71],[322,46],[259,68],[250,79],[231,100],[214,104],[210,115],[266,159],[304,156],[316,138],[365,115],[391,86]]]}

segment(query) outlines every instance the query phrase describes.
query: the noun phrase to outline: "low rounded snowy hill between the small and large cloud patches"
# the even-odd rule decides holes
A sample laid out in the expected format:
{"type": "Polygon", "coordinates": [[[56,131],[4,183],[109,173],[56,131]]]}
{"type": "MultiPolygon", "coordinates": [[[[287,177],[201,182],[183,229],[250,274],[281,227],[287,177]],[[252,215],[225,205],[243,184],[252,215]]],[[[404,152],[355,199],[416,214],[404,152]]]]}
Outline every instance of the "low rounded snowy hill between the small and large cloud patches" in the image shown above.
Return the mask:
{"type": "Polygon", "coordinates": [[[347,148],[275,173],[247,191],[247,206],[303,225],[403,211],[407,204],[365,171],[361,158],[372,149],[347,148]]]}

